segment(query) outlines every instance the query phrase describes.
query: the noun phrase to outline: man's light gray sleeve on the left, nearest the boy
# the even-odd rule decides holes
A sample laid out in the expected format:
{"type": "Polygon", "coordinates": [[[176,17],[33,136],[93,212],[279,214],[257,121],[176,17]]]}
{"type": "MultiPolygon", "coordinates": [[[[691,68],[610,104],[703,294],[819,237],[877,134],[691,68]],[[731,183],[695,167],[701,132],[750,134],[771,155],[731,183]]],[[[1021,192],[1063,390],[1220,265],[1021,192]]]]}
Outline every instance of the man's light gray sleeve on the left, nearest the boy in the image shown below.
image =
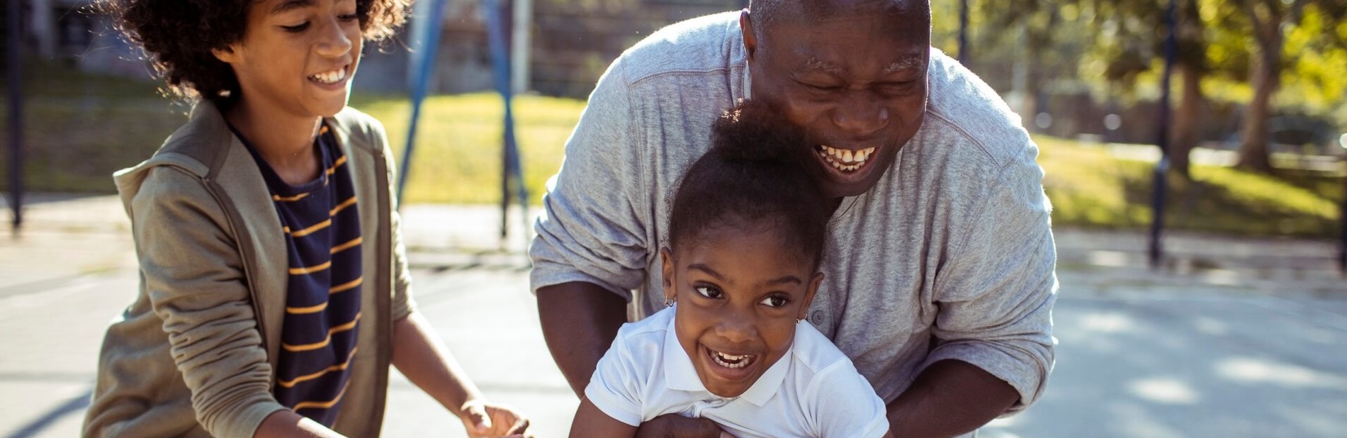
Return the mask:
{"type": "Polygon", "coordinates": [[[618,58],[599,78],[547,182],[529,247],[533,291],[570,282],[598,284],[624,299],[645,278],[651,182],[640,117],[618,58]]]}

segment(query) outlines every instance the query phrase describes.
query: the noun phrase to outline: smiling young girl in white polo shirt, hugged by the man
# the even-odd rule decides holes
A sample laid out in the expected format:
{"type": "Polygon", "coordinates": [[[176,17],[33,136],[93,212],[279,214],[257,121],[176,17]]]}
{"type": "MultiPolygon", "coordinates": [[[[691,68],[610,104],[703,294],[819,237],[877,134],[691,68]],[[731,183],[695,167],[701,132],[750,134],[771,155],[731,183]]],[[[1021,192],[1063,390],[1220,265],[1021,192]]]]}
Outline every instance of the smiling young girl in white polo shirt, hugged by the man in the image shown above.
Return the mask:
{"type": "Polygon", "coordinates": [[[800,137],[744,102],[683,175],[663,257],[665,305],[618,330],[571,437],[633,437],[664,414],[737,437],[888,437],[884,402],[804,323],[831,216],[800,137]]]}

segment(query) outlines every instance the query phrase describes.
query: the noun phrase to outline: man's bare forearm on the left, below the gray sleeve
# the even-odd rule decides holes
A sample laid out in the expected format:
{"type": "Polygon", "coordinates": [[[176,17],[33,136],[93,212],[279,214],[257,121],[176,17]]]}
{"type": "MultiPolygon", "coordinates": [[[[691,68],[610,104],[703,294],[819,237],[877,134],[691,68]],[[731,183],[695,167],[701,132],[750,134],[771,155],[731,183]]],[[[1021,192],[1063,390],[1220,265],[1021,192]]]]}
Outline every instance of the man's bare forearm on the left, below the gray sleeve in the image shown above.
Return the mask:
{"type": "Polygon", "coordinates": [[[626,322],[626,301],[593,283],[546,286],[537,288],[537,318],[556,367],[583,398],[594,367],[626,322]]]}

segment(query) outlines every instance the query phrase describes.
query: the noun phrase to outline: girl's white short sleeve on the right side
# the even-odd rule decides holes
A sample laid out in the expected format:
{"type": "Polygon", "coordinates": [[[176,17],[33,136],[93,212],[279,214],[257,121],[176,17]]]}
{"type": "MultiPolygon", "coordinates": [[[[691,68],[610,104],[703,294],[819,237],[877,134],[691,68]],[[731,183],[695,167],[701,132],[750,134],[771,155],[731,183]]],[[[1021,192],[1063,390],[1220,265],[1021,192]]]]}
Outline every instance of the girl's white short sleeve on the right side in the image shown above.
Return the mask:
{"type": "Polygon", "coordinates": [[[839,360],[819,371],[803,403],[816,437],[878,438],[889,433],[884,400],[851,361],[839,360]]]}

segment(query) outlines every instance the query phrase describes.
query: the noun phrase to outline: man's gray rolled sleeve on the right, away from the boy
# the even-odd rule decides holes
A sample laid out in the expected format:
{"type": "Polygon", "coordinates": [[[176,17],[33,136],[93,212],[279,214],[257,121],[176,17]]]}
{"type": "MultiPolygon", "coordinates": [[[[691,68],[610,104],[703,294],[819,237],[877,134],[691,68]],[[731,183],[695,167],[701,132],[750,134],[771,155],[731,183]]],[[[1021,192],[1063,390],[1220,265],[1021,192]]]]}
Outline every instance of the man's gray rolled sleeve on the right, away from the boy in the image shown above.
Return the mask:
{"type": "Polygon", "coordinates": [[[1056,249],[1036,154],[1029,144],[1002,170],[939,274],[938,342],[923,364],[959,360],[1005,380],[1020,394],[1008,414],[1043,395],[1055,358],[1056,249]]]}

